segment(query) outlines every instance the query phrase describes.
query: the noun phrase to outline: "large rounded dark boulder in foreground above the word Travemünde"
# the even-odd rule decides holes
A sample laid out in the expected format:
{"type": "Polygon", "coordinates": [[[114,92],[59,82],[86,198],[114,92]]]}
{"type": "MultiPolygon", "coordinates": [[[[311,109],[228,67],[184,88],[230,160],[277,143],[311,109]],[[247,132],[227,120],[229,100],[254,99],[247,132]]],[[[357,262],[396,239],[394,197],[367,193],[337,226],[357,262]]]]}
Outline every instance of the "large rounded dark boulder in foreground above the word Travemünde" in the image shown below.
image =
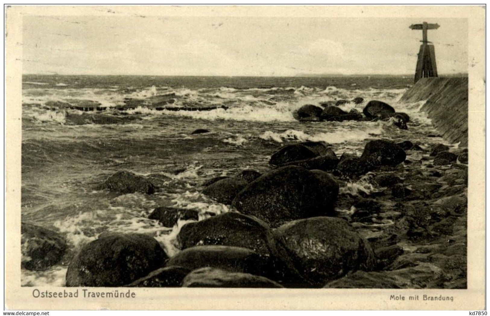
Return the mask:
{"type": "Polygon", "coordinates": [[[165,264],[158,242],[143,234],[109,233],[85,245],[66,272],[66,286],[118,287],[165,264]]]}

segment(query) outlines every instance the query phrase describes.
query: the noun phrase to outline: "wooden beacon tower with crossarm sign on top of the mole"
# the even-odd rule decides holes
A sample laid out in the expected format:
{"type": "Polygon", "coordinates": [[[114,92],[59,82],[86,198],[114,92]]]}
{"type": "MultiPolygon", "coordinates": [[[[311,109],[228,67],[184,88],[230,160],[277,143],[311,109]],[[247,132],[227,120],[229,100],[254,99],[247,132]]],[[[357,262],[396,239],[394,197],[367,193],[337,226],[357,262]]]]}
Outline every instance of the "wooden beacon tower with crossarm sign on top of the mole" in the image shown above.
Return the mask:
{"type": "Polygon", "coordinates": [[[422,45],[418,51],[417,68],[415,69],[415,83],[418,79],[425,77],[437,77],[436,51],[434,45],[427,41],[427,30],[435,30],[439,28],[439,24],[427,23],[412,24],[412,30],[422,30],[422,45]],[[430,43],[430,44],[429,44],[430,43]]]}

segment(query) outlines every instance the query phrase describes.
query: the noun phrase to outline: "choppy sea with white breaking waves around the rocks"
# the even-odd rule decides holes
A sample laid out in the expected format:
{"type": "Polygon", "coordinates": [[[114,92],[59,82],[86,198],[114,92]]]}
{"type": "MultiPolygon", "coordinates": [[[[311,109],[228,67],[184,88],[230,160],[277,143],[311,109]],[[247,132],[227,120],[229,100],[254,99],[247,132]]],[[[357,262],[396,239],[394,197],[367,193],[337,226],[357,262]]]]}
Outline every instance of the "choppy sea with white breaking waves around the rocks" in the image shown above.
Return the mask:
{"type": "MultiPolygon", "coordinates": [[[[167,254],[186,221],[161,226],[147,215],[157,206],[198,209],[202,220],[229,205],[202,195],[202,183],[243,169],[270,170],[270,156],[298,141],[325,141],[340,157],[362,154],[369,139],[410,140],[422,148],[444,143],[424,101],[399,102],[412,76],[212,77],[24,75],[22,86],[22,221],[66,235],[67,259],[47,271],[22,271],[23,286],[64,286],[70,256],[103,232],[153,236],[167,254]],[[172,107],[221,107],[211,111],[157,111],[144,106],[118,110],[125,98],[174,93],[172,107]],[[364,98],[345,103],[362,112],[370,100],[410,115],[408,130],[392,121],[299,122],[305,104],[364,98]],[[103,111],[45,107],[48,101],[96,101],[103,111]],[[191,135],[196,129],[209,133],[191,135]],[[98,190],[112,174],[127,170],[147,177],[158,192],[117,194],[98,190]]],[[[454,145],[454,144],[452,144],[454,145]]],[[[341,192],[374,188],[361,178],[341,192]]],[[[343,211],[343,210],[339,210],[343,211]]],[[[348,210],[346,210],[348,211],[348,210]]],[[[378,225],[391,225],[381,223],[378,225]]],[[[371,230],[366,230],[370,231],[371,230]]]]}

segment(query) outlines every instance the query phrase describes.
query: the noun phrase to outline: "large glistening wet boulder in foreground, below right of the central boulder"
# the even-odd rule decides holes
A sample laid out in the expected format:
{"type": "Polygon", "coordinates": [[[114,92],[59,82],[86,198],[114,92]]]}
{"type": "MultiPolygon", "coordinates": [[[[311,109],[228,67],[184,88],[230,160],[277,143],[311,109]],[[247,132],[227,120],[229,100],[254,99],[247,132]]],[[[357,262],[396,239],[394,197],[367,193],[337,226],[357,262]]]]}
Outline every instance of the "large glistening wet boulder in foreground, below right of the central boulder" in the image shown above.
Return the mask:
{"type": "Polygon", "coordinates": [[[274,237],[301,275],[317,287],[349,271],[372,270],[376,264],[368,242],[340,218],[293,221],[274,230],[274,237]]]}

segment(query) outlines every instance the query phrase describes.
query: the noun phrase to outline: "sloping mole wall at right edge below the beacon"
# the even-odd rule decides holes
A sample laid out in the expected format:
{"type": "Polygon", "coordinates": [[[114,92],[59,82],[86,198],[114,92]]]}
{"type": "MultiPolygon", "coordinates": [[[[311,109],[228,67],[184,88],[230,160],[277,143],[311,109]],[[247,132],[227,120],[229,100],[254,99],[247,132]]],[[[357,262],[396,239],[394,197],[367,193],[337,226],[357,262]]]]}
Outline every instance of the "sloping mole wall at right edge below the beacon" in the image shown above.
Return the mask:
{"type": "Polygon", "coordinates": [[[422,78],[407,90],[401,102],[427,100],[427,113],[442,137],[460,147],[468,146],[468,78],[422,78]]]}

